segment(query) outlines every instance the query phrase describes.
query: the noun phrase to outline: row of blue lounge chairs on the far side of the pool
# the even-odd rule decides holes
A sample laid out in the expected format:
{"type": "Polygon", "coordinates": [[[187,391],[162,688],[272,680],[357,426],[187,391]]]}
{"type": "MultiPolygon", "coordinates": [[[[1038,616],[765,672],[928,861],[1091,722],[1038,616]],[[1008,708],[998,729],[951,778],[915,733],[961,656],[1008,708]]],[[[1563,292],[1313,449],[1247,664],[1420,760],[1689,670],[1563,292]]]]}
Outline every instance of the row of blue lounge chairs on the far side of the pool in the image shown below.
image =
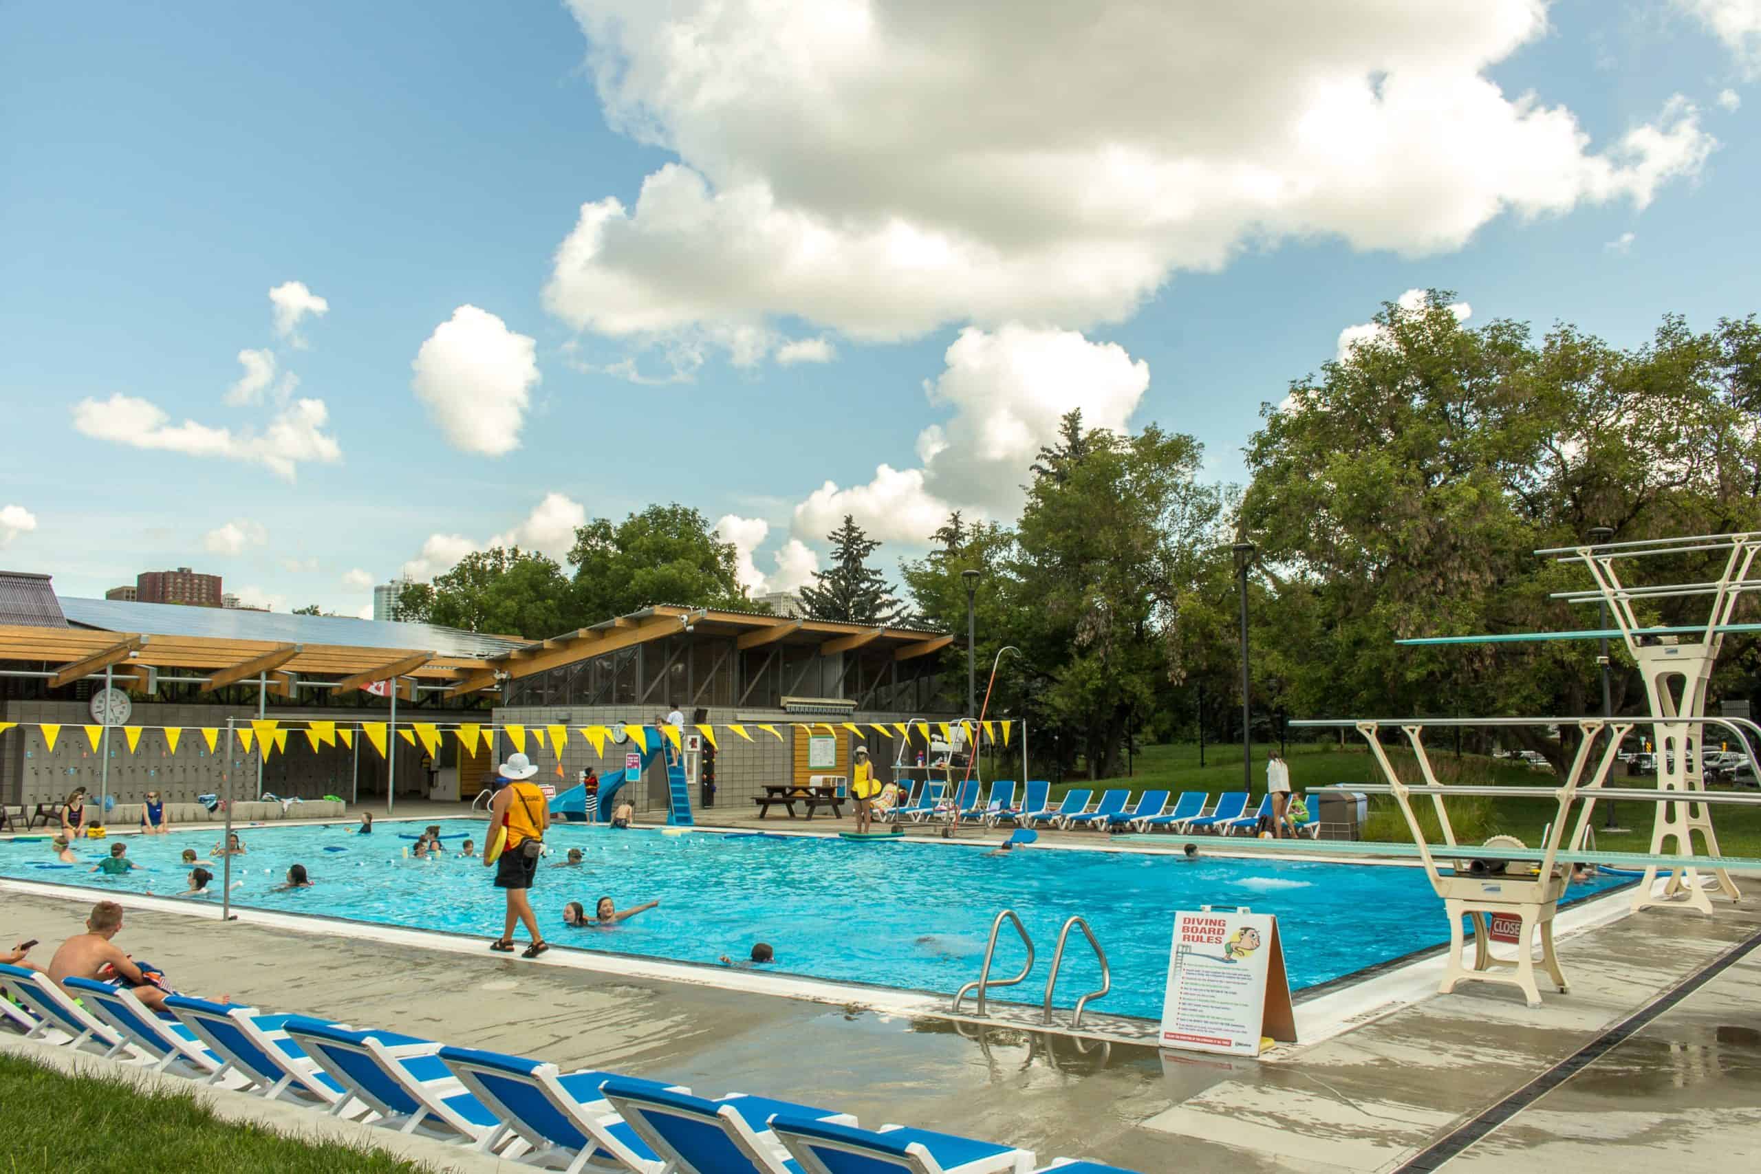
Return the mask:
{"type": "MultiPolygon", "coordinates": [[[[1217,797],[1215,806],[1210,806],[1210,792],[1183,790],[1169,810],[1168,799],[1173,792],[1168,790],[1145,790],[1138,796],[1136,806],[1131,806],[1129,789],[1111,789],[1104,790],[1101,801],[1090,808],[1094,790],[1071,789],[1064,792],[1064,801],[1058,806],[1050,806],[1051,783],[1035,780],[1027,785],[1027,797],[1016,806],[1014,783],[991,783],[990,794],[983,801],[979,787],[977,781],[969,780],[960,785],[954,801],[946,803],[946,783],[933,780],[919,783],[910,803],[888,811],[886,818],[921,824],[958,811],[960,818],[977,820],[986,827],[1014,824],[1018,827],[1099,827],[1101,831],[1138,833],[1168,829],[1182,834],[1208,831],[1229,836],[1238,831],[1252,831],[1263,817],[1271,817],[1271,796],[1264,796],[1259,808],[1249,813],[1250,796],[1245,790],[1224,792],[1217,797]]],[[[1317,829],[1317,810],[1310,804],[1308,818],[1296,825],[1296,833],[1312,838],[1317,829]]]]}

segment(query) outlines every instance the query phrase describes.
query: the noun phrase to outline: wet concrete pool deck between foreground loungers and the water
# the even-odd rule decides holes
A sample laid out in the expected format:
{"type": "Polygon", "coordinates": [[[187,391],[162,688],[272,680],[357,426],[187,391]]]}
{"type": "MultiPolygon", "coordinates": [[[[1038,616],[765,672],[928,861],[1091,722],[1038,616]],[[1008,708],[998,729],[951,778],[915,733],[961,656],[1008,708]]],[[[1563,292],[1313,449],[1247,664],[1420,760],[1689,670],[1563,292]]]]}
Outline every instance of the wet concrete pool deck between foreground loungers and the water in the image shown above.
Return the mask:
{"type": "MultiPolygon", "coordinates": [[[[400,803],[398,815],[440,818],[461,808],[400,803]]],[[[777,831],[789,824],[808,827],[763,820],[777,831]]],[[[812,829],[828,831],[829,820],[812,820],[812,829]]],[[[1745,880],[1752,891],[1756,878],[1745,880]]],[[[46,963],[79,929],[90,901],[14,887],[0,933],[41,938],[35,958],[46,963]]],[[[791,1097],[865,1123],[1009,1141],[1041,1162],[1088,1156],[1146,1174],[1418,1170],[1435,1169],[1439,1156],[1451,1170],[1488,1174],[1544,1163],[1597,1174],[1761,1163],[1761,1010],[1752,998],[1761,901],[1752,896],[1736,906],[1715,901],[1712,919],[1678,908],[1618,915],[1624,899],[1604,899],[1560,943],[1573,993],[1546,993],[1539,1010],[1507,987],[1430,994],[1435,977],[1419,963],[1330,996],[1358,998],[1344,1014],[1349,1030],[1259,1061],[608,973],[558,952],[528,963],[468,950],[463,940],[345,938],[322,926],[291,935],[252,912],[225,924],[213,908],[197,917],[129,905],[123,949],[150,954],[206,994],[565,1068],[664,1077],[708,1095],[791,1097]],[[1743,949],[1752,952],[1736,956],[1743,949]],[[1708,966],[1722,970],[1706,979],[1708,966]],[[1680,994],[1685,980],[1699,986],[1680,994]],[[1377,1003],[1365,991],[1391,998],[1377,1003]],[[1657,1007],[1671,991],[1678,998],[1657,1007]],[[1608,1035],[1647,1007],[1654,1017],[1608,1035]],[[1507,1102],[1585,1047],[1592,1053],[1557,1086],[1507,1102]],[[1497,1128],[1474,1144],[1411,1163],[1493,1107],[1497,1128]]]]}

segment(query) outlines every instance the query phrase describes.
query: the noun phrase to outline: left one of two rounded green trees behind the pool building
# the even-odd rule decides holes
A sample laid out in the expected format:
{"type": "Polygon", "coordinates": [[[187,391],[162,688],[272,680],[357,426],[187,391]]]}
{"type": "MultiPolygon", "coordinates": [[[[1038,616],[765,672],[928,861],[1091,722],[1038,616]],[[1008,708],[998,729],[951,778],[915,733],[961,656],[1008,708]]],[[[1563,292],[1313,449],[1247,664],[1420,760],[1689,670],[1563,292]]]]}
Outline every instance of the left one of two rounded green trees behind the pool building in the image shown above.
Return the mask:
{"type": "Polygon", "coordinates": [[[571,623],[569,579],[555,560],[518,546],[474,551],[431,584],[398,593],[402,620],[467,632],[544,639],[571,623]]]}

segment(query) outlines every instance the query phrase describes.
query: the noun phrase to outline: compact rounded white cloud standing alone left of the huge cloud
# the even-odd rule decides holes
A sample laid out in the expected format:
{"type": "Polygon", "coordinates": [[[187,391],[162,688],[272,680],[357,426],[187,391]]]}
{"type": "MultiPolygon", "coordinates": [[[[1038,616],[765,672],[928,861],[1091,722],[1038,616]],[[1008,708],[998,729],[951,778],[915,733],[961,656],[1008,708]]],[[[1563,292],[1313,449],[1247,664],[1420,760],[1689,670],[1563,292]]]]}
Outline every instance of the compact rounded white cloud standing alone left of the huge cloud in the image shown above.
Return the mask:
{"type": "Polygon", "coordinates": [[[519,447],[527,403],[541,378],[532,338],[488,310],[460,306],[435,327],[410,368],[416,398],[453,447],[484,456],[519,447]]]}

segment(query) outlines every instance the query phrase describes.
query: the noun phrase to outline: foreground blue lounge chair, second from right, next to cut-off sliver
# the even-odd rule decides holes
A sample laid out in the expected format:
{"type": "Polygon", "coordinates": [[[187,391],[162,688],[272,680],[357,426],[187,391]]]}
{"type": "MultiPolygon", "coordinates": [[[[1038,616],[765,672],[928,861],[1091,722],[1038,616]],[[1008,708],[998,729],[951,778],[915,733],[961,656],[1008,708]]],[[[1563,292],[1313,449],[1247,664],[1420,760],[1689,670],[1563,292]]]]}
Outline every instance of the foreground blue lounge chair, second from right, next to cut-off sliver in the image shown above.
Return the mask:
{"type": "Polygon", "coordinates": [[[851,1125],[778,1116],[771,1130],[805,1174],[1030,1174],[1034,1153],[986,1141],[882,1125],[851,1125]]]}

